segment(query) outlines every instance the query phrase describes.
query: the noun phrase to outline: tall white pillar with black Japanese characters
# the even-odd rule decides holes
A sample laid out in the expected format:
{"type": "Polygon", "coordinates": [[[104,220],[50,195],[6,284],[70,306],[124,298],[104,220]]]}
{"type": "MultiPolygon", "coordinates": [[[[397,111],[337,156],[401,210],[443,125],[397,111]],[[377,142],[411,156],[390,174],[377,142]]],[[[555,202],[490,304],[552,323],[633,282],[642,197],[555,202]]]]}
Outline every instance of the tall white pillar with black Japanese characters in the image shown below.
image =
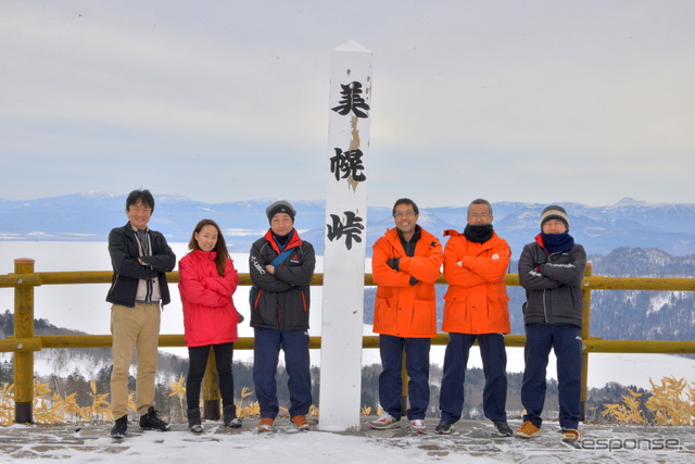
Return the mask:
{"type": "Polygon", "coordinates": [[[371,52],[357,42],[333,50],[328,109],[319,427],[340,430],[361,407],[371,52]]]}

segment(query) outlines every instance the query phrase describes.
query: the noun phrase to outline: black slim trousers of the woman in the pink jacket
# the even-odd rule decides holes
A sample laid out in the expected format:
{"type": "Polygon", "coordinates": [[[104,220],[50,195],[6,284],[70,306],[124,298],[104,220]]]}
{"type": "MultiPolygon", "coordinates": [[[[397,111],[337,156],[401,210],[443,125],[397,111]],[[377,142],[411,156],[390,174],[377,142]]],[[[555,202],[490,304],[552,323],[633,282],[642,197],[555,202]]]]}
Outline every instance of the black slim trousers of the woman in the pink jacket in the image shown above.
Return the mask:
{"type": "Polygon", "coordinates": [[[235,378],[231,372],[231,358],[235,343],[206,344],[204,347],[188,347],[188,376],[186,378],[186,403],[189,410],[200,406],[200,386],[207,367],[210,347],[215,352],[215,366],[222,404],[235,404],[235,378]]]}

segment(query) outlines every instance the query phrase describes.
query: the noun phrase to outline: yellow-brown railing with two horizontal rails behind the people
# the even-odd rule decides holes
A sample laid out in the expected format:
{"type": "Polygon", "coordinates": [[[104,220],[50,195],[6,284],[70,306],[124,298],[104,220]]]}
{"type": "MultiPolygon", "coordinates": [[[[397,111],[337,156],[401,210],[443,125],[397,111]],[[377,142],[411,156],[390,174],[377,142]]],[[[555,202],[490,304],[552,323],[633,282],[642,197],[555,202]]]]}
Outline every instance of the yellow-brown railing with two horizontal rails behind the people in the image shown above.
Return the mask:
{"type": "MultiPolygon", "coordinates": [[[[79,272],[34,272],[34,260],[14,260],[14,273],[0,275],[0,288],[14,288],[14,336],[0,340],[0,351],[13,351],[14,359],[14,394],[15,394],[15,422],[33,422],[31,404],[34,400],[34,352],[47,348],[110,348],[112,338],[110,335],[61,335],[61,336],[35,336],[34,335],[34,288],[42,285],[71,285],[71,284],[110,284],[112,272],[110,271],[79,271],[79,272]]],[[[176,284],[179,280],[177,272],[167,274],[167,280],[176,284]]],[[[446,285],[444,278],[438,284],[446,285]]],[[[315,274],[313,286],[321,286],[324,275],[315,274]]],[[[508,274],[507,286],[519,286],[519,276],[508,274]]],[[[249,274],[239,275],[240,286],[251,286],[249,274]]],[[[365,274],[365,285],[374,286],[371,274],[365,274]]],[[[695,353],[695,341],[657,341],[657,340],[603,340],[591,337],[591,291],[592,290],[660,290],[660,291],[695,291],[695,278],[653,278],[653,277],[605,277],[592,275],[591,263],[586,266],[586,274],[582,281],[583,289],[583,329],[584,341],[582,365],[582,419],[584,418],[584,404],[586,402],[586,385],[589,372],[589,353],[695,353]]],[[[446,344],[448,337],[440,334],[432,339],[432,344],[446,344]]],[[[505,337],[507,347],[523,347],[526,337],[522,335],[509,335],[505,337]]],[[[184,335],[160,335],[160,347],[184,347],[184,335]]],[[[363,348],[378,348],[379,337],[363,337],[363,348]]],[[[311,337],[309,348],[320,348],[320,337],[311,337]]],[[[253,338],[240,338],[235,343],[235,350],[253,349],[253,338]]],[[[203,386],[205,403],[218,403],[219,396],[216,390],[214,363],[208,363],[203,386]]],[[[407,385],[407,383],[404,383],[407,385]]],[[[218,412],[205,406],[208,418],[218,417],[218,412]],[[210,414],[210,415],[208,415],[210,414]],[[211,417],[212,415],[212,417],[211,417]]]]}

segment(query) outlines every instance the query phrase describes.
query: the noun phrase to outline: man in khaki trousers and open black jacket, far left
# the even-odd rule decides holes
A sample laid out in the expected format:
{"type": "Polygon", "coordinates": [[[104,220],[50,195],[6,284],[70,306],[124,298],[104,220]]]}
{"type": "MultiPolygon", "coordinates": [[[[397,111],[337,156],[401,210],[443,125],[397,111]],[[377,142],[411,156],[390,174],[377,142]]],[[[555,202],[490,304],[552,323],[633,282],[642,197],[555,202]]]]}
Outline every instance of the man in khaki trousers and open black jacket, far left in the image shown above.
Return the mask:
{"type": "Polygon", "coordinates": [[[115,421],[113,438],[123,438],[128,428],[128,372],[136,350],[138,373],[136,409],[140,428],[168,430],[154,409],[154,374],[160,338],[160,308],[170,300],[166,274],[174,269],[176,255],[159,231],[148,227],[154,211],[149,190],[134,190],[126,199],[128,224],[109,234],[113,266],[106,301],[111,306],[113,372],[111,411],[115,421]]]}

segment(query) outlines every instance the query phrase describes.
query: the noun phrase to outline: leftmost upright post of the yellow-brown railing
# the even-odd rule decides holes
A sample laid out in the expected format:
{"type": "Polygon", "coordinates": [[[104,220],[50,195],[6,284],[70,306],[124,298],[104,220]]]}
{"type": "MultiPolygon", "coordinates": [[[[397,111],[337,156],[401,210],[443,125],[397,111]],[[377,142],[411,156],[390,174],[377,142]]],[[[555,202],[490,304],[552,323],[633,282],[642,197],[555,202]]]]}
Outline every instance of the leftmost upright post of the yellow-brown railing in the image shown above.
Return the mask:
{"type": "MultiPolygon", "coordinates": [[[[14,260],[15,274],[33,274],[34,260],[14,260]]],[[[22,284],[22,279],[17,284],[22,284]]],[[[18,285],[14,288],[14,336],[34,338],[34,287],[18,285]]],[[[34,422],[34,351],[14,353],[14,422],[34,422]]]]}

